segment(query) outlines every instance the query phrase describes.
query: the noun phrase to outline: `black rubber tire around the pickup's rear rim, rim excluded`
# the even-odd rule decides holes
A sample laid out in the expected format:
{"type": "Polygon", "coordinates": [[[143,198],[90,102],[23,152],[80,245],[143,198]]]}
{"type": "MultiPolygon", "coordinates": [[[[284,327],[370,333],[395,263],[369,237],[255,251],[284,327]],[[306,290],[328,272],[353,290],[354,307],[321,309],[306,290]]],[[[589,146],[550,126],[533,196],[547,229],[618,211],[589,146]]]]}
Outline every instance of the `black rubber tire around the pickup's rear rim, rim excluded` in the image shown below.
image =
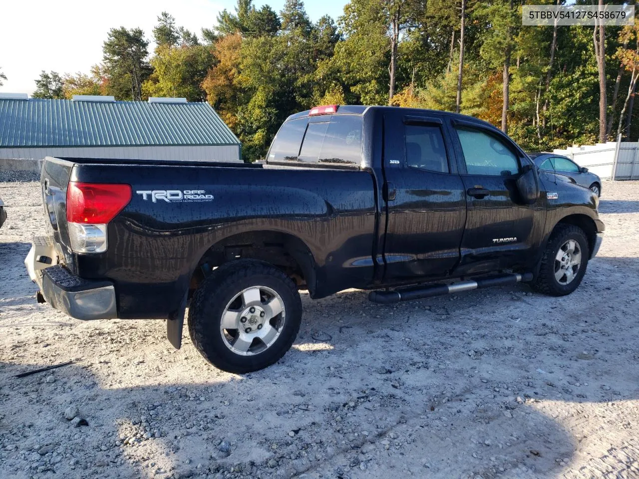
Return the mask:
{"type": "Polygon", "coordinates": [[[197,351],[213,366],[243,374],[278,361],[295,341],[302,321],[302,301],[293,280],[263,261],[240,259],[216,270],[197,288],[189,307],[189,335],[197,351]],[[242,356],[226,346],[220,325],[226,305],[243,289],[261,285],[277,292],[286,319],[275,342],[258,354],[242,356]]]}

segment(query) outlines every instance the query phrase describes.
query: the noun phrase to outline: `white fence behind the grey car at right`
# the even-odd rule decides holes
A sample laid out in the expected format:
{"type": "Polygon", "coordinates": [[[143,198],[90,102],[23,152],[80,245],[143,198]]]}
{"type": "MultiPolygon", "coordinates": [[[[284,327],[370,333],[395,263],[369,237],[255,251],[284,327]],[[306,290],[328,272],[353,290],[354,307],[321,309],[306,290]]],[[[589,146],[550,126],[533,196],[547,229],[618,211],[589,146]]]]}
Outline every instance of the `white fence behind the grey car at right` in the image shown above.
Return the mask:
{"type": "Polygon", "coordinates": [[[639,179],[639,142],[569,146],[553,153],[571,158],[601,179],[639,179]]]}

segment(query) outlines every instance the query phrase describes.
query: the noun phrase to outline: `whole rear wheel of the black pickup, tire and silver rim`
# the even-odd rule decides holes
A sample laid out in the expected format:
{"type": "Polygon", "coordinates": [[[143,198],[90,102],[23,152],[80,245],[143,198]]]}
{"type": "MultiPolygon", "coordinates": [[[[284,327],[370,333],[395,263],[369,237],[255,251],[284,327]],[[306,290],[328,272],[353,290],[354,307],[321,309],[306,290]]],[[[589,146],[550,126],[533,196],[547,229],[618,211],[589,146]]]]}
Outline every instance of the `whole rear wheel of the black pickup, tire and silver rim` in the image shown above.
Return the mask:
{"type": "Polygon", "coordinates": [[[219,369],[245,373],[279,360],[302,321],[295,283],[266,262],[239,260],[213,271],[194,294],[189,333],[219,369]]]}

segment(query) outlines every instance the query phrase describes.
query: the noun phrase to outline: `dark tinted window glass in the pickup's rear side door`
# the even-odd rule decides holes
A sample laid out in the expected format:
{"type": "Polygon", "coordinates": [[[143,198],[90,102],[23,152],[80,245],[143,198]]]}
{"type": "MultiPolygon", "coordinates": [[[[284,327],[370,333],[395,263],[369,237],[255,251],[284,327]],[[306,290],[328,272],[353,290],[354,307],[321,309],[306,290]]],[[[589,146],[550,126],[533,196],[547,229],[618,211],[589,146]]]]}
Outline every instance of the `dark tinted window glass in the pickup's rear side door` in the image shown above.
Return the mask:
{"type": "Polygon", "coordinates": [[[439,126],[406,125],[406,164],[430,171],[449,172],[448,157],[439,126]]]}

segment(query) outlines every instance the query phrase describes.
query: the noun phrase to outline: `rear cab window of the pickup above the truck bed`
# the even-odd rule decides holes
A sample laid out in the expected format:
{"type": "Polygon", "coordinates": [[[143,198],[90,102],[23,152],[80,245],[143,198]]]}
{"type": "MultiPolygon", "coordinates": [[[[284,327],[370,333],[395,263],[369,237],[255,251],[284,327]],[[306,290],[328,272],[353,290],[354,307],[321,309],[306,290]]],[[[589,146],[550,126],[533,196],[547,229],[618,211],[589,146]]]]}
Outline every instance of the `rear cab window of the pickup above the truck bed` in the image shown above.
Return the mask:
{"type": "Polygon", "coordinates": [[[326,115],[289,120],[273,139],[268,162],[359,166],[362,116],[326,115]]]}

